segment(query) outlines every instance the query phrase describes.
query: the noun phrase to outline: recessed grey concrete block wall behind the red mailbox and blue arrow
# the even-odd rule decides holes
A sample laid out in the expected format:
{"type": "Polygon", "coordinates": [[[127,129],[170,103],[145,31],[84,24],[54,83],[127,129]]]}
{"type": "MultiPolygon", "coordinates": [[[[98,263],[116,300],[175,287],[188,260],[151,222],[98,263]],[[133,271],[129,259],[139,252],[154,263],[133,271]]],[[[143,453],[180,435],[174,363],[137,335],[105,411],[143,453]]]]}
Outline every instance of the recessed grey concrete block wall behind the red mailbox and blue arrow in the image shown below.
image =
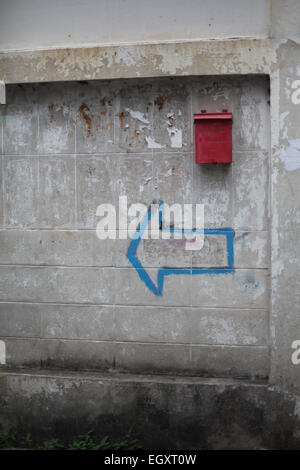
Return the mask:
{"type": "MultiPolygon", "coordinates": [[[[6,365],[263,379],[269,374],[269,83],[264,76],[10,85],[0,108],[0,339],[6,365]],[[233,112],[233,164],[194,163],[193,113],[233,112]],[[203,203],[235,231],[235,272],[167,276],[162,296],[96,237],[96,208],[203,203]]],[[[161,266],[225,246],[143,240],[161,266]]]]}

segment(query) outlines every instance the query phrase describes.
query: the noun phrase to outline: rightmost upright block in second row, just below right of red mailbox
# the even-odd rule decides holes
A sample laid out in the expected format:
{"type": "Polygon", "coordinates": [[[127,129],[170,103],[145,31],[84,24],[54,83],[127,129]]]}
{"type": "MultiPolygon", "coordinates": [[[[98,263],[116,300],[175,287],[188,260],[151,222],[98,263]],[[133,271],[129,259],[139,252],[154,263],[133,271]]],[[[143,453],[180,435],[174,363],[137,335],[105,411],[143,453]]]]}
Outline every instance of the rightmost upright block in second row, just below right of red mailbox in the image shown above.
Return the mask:
{"type": "Polygon", "coordinates": [[[268,153],[234,153],[232,171],[234,227],[243,230],[266,230],[268,153]]]}

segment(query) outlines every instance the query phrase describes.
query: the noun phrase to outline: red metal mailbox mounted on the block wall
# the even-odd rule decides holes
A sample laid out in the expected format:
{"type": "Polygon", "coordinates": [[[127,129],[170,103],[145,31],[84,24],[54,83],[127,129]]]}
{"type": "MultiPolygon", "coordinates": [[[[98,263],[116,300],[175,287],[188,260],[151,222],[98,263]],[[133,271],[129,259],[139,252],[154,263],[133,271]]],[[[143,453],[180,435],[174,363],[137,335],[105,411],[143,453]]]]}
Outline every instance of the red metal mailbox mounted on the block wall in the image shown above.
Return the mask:
{"type": "Polygon", "coordinates": [[[232,113],[194,114],[196,163],[232,162],[232,113]]]}

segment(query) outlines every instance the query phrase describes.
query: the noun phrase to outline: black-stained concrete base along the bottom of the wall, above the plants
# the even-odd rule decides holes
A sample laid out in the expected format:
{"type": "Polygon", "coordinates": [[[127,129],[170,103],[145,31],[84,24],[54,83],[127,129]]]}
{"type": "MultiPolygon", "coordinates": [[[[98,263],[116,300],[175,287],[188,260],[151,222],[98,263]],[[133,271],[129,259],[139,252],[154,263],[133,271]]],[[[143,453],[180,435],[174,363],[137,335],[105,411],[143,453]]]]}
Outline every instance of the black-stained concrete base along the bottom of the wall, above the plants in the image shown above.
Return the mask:
{"type": "Polygon", "coordinates": [[[56,371],[0,373],[2,428],[64,440],[132,427],[145,449],[299,446],[296,404],[265,383],[56,371]]]}

